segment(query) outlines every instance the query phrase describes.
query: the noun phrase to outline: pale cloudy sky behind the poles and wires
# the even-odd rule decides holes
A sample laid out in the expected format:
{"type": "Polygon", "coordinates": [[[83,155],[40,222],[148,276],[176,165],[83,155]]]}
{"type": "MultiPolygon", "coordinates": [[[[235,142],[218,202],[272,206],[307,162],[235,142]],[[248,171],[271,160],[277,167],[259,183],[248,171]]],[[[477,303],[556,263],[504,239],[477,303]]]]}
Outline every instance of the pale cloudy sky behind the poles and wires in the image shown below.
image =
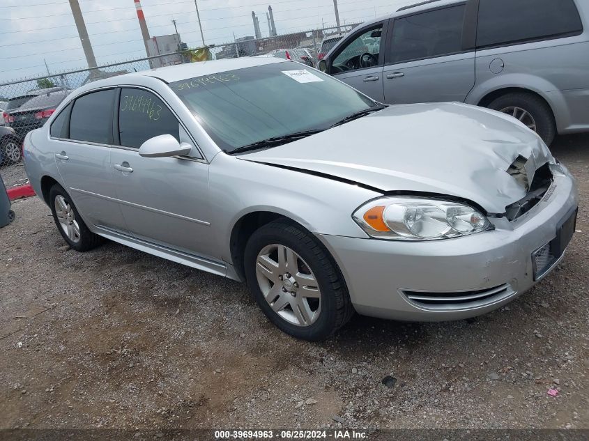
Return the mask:
{"type": "MultiPolygon", "coordinates": [[[[332,0],[197,0],[207,44],[253,36],[252,11],[263,37],[273,8],[278,34],[335,26],[332,0]]],[[[338,0],[341,24],[371,20],[413,0],[338,0]]],[[[133,0],[79,0],[99,65],[146,56],[133,0]]],[[[201,45],[194,0],[142,0],[151,36],[178,33],[201,45]]],[[[0,83],[86,68],[68,0],[0,0],[0,83]]]]}

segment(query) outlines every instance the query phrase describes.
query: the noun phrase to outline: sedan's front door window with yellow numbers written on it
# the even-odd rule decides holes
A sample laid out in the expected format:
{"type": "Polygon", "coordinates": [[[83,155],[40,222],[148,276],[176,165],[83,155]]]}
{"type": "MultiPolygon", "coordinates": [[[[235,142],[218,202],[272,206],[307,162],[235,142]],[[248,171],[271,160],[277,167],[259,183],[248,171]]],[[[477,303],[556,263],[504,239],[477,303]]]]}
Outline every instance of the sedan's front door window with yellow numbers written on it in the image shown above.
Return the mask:
{"type": "Polygon", "coordinates": [[[121,89],[118,135],[121,146],[139,148],[150,138],[171,134],[180,141],[176,116],[153,93],[140,88],[121,89]]]}

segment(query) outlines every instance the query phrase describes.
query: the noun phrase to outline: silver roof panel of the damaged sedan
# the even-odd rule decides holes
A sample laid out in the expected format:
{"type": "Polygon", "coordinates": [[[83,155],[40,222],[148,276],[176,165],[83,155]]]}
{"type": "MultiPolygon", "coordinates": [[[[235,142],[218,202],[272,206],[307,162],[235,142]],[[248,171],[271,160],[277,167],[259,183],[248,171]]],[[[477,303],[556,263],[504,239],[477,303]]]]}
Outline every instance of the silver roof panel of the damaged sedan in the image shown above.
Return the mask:
{"type": "Polygon", "coordinates": [[[161,79],[166,83],[173,83],[188,78],[215,75],[218,73],[227,72],[229,70],[253,68],[254,66],[258,65],[285,62],[286,61],[284,59],[270,56],[244,56],[238,59],[198,61],[195,63],[178,64],[167,66],[165,68],[141,70],[139,72],[117,75],[116,77],[100,79],[88,84],[87,86],[91,86],[92,88],[100,86],[116,86],[118,84],[132,82],[132,80],[137,77],[154,77],[161,79]]]}

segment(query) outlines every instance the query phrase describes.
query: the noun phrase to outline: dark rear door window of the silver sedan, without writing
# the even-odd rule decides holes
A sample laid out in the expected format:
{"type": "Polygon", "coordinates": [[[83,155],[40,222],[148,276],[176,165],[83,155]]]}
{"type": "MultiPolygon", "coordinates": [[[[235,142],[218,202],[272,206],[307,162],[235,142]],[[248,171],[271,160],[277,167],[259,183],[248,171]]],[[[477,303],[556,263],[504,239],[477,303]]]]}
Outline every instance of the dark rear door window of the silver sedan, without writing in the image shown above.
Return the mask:
{"type": "Polygon", "coordinates": [[[70,139],[98,144],[112,143],[112,105],[114,89],[78,98],[70,118],[70,139]]]}

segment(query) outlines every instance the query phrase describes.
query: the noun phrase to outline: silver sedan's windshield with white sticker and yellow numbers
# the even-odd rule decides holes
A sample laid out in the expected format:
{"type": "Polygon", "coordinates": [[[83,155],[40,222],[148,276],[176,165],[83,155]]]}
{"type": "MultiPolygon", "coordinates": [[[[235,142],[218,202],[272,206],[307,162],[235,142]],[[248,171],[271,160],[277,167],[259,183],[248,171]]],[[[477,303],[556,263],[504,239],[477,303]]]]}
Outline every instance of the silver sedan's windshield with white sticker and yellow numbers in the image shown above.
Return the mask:
{"type": "Polygon", "coordinates": [[[217,145],[236,148],[325,130],[376,103],[312,68],[286,61],[169,84],[217,145]]]}

